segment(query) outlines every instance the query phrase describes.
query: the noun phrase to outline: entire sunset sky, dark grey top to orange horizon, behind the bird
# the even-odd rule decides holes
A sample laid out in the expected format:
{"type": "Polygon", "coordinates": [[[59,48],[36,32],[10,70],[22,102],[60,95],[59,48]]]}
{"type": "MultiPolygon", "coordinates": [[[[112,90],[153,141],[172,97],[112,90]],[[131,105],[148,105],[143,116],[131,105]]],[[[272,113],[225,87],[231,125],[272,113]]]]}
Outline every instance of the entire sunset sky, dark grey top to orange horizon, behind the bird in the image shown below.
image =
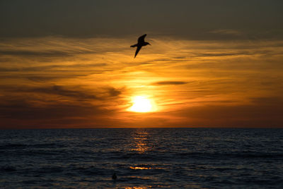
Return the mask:
{"type": "Polygon", "coordinates": [[[1,0],[0,128],[283,128],[282,10],[1,0]],[[134,59],[144,34],[151,46],[134,59]],[[150,110],[133,111],[137,97],[150,110]]]}

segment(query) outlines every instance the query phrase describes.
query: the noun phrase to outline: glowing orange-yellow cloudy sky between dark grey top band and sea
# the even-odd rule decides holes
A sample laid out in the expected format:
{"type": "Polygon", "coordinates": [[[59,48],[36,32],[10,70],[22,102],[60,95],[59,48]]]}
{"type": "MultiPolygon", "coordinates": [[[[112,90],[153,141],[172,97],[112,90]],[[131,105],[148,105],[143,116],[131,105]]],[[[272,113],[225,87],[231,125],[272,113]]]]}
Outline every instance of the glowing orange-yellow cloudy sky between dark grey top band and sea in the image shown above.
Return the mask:
{"type": "Polygon", "coordinates": [[[3,40],[0,128],[283,126],[283,41],[136,40],[3,40]]]}

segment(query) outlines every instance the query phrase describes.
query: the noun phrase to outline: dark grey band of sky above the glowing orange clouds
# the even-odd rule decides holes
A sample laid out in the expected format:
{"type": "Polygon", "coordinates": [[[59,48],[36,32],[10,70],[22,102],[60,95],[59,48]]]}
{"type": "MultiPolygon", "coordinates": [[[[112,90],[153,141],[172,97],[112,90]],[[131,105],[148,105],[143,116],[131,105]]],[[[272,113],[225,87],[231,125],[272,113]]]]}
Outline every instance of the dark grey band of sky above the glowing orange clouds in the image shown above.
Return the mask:
{"type": "Polygon", "coordinates": [[[282,10],[281,0],[1,0],[0,36],[282,38],[282,10]]]}

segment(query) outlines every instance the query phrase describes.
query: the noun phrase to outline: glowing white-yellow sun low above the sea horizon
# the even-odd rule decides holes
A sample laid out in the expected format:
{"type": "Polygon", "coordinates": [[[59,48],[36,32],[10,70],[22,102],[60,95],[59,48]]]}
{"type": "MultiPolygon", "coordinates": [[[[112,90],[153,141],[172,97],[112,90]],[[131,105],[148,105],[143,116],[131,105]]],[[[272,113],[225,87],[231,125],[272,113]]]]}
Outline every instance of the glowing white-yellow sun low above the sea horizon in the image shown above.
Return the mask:
{"type": "Polygon", "coordinates": [[[151,100],[146,97],[137,96],[132,99],[132,106],[129,108],[129,111],[135,112],[149,112],[154,111],[153,104],[151,100]]]}

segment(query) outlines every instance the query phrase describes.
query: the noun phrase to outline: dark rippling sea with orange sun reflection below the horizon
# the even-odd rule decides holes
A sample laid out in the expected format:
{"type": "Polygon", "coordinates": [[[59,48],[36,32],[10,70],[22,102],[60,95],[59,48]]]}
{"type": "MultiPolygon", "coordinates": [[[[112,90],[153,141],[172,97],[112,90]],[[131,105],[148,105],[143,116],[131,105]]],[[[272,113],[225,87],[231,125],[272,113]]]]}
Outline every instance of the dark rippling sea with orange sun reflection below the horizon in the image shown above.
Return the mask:
{"type": "Polygon", "coordinates": [[[283,129],[0,130],[0,188],[283,188],[283,129]]]}

